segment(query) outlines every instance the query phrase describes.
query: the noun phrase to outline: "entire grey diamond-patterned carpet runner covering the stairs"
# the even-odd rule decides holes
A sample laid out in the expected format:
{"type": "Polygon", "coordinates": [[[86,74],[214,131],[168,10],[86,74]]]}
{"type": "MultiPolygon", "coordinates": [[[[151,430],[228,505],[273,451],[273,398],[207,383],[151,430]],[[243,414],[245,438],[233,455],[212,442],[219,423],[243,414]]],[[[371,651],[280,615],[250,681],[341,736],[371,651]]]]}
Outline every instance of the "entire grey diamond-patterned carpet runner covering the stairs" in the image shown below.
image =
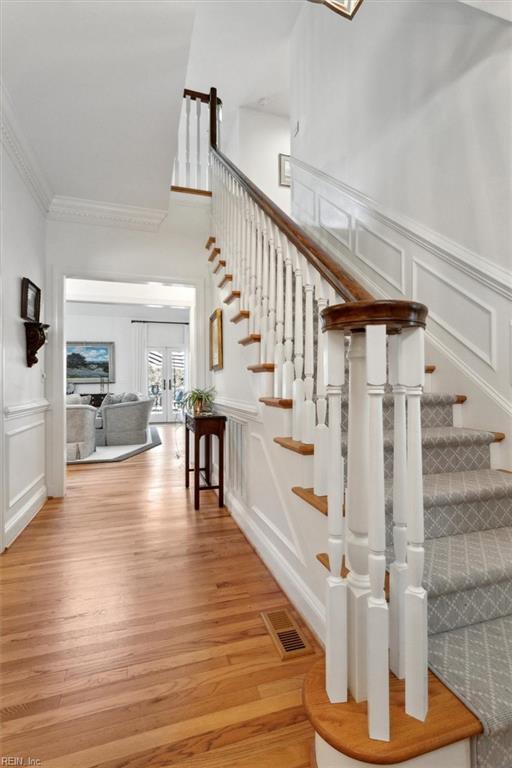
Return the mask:
{"type": "MultiPolygon", "coordinates": [[[[429,663],[484,726],[472,743],[474,768],[512,768],[512,474],[490,468],[493,432],[453,426],[456,402],[422,400],[429,663]]],[[[392,418],[386,396],[385,429],[392,418]]],[[[388,433],[389,547],[392,467],[388,433]]]]}

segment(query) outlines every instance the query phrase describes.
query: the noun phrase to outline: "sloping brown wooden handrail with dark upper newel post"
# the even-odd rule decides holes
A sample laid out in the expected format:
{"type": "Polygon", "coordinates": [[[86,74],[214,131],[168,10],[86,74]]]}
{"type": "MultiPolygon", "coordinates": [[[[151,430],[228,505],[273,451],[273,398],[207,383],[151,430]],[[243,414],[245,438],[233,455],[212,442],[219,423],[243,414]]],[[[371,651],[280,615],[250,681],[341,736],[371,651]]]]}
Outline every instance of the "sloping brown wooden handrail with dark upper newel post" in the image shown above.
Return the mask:
{"type": "Polygon", "coordinates": [[[217,147],[217,90],[210,91],[210,148],[217,160],[238,181],[258,207],[266,214],[307,261],[334,288],[345,301],[373,301],[373,296],[349,275],[334,259],[317,245],[309,235],[284,211],[272,202],[247,176],[240,171],[217,147]]]}

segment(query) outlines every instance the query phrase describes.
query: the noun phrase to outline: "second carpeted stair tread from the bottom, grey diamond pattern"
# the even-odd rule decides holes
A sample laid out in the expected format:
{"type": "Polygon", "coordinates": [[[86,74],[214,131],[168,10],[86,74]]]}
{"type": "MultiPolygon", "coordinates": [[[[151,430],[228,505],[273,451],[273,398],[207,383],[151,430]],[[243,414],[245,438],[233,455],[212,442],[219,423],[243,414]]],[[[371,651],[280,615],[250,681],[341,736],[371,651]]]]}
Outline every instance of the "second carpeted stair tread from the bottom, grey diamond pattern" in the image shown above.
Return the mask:
{"type": "Polygon", "coordinates": [[[425,542],[423,586],[429,598],[512,579],[512,527],[425,542]]]}

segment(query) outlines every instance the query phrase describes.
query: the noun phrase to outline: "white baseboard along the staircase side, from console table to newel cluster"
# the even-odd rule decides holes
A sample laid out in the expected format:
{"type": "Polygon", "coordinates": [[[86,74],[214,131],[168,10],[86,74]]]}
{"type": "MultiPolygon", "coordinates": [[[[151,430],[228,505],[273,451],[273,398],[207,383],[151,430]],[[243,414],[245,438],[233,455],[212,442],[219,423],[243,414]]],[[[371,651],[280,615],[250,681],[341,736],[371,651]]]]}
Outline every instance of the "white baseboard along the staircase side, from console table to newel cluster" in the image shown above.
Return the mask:
{"type": "Polygon", "coordinates": [[[238,527],[261,557],[318,642],[323,646],[325,607],[297,571],[291,567],[290,562],[281,555],[274,544],[252,522],[250,512],[229,491],[226,493],[226,502],[238,527]]]}

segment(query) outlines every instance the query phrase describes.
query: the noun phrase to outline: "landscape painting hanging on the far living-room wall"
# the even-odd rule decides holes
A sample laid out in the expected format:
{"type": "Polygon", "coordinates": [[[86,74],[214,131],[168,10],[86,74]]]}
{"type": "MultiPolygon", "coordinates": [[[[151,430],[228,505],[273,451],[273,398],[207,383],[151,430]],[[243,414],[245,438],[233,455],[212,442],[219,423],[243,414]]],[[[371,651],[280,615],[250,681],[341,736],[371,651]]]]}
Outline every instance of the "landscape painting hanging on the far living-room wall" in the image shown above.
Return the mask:
{"type": "Polygon", "coordinates": [[[66,376],[75,384],[114,382],[114,342],[68,341],[66,376]]]}

